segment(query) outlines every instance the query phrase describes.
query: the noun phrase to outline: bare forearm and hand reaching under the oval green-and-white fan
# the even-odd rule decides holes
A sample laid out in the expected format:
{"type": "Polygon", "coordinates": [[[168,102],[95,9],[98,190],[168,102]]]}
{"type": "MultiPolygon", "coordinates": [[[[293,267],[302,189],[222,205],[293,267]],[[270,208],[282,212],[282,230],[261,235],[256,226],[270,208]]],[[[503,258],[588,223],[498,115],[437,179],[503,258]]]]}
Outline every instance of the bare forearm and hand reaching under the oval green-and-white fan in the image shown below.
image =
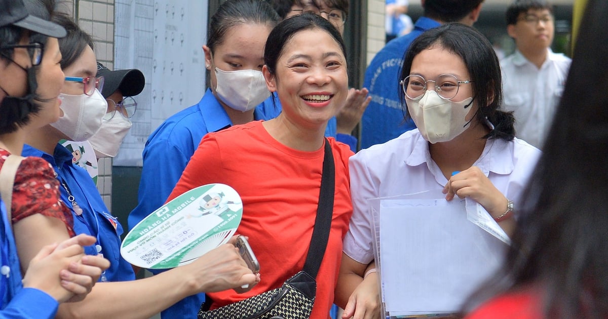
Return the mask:
{"type": "Polygon", "coordinates": [[[150,318],[195,293],[252,285],[255,280],[229,241],[190,264],[150,278],[98,283],[85,300],[62,304],[58,318],[150,318]]]}

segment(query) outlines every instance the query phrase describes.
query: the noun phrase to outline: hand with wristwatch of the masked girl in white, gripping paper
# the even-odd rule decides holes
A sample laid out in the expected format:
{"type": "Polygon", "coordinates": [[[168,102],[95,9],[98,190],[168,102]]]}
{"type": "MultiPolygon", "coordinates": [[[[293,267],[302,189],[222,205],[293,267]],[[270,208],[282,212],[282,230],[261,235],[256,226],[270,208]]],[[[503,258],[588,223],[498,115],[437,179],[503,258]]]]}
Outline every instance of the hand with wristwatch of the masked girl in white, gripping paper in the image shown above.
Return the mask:
{"type": "Polygon", "coordinates": [[[452,176],[443,188],[443,193],[446,194],[447,201],[454,199],[454,196],[470,197],[482,205],[492,217],[500,216],[507,209],[505,195],[494,187],[477,166],[471,166],[468,170],[452,176]]]}

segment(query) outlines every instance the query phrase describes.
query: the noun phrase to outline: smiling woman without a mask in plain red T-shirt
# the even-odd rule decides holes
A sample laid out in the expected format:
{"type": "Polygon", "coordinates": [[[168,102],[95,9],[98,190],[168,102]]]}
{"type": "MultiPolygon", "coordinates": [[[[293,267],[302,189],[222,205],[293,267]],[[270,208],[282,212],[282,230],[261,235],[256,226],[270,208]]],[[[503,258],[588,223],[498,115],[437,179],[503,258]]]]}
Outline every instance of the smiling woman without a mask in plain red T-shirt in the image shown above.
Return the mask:
{"type": "Polygon", "coordinates": [[[320,16],[299,15],[275,27],[266,41],[263,74],[268,89],[279,92],[283,112],[266,122],[207,134],[169,196],[223,183],[243,199],[237,233],[249,237],[263,279],[249,292],[209,293],[212,309],[280,287],[302,270],[319,206],[325,149],[331,149],[333,216],[310,315],[328,317],[352,211],[347,162],[353,153],[333,138],[324,139],[323,132],[347,97],[345,61],[339,32],[320,16]]]}

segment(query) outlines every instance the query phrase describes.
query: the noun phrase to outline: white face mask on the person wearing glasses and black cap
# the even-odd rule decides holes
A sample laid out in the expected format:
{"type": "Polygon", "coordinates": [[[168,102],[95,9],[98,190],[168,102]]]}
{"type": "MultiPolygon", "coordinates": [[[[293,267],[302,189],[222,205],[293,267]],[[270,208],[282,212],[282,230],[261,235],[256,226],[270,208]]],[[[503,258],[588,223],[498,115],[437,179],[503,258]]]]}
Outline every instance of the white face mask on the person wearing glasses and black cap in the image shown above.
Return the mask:
{"type": "Polygon", "coordinates": [[[98,159],[116,156],[120,144],[122,144],[122,140],[125,138],[131,125],[133,123],[120,115],[118,111],[116,111],[114,117],[109,120],[103,120],[102,128],[89,139],[89,143],[91,143],[95,151],[95,156],[98,159]]]}

